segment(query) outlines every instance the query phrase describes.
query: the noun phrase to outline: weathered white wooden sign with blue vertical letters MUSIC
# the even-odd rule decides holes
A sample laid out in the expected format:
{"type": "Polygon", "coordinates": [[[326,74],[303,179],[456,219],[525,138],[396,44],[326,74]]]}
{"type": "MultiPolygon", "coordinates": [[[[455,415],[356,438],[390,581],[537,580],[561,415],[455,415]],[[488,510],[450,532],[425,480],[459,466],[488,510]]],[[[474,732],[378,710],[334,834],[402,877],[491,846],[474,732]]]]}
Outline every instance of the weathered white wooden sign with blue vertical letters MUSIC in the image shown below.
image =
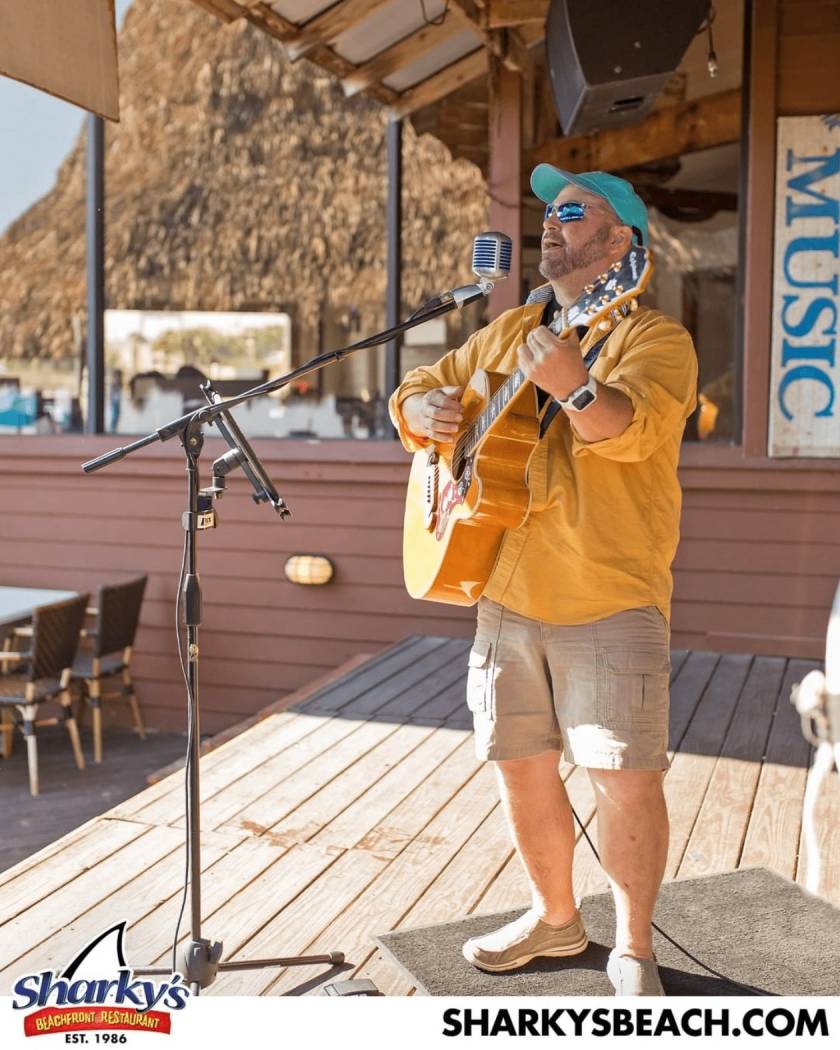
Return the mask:
{"type": "Polygon", "coordinates": [[[840,457],[840,114],[781,117],[771,456],[840,457]]]}

